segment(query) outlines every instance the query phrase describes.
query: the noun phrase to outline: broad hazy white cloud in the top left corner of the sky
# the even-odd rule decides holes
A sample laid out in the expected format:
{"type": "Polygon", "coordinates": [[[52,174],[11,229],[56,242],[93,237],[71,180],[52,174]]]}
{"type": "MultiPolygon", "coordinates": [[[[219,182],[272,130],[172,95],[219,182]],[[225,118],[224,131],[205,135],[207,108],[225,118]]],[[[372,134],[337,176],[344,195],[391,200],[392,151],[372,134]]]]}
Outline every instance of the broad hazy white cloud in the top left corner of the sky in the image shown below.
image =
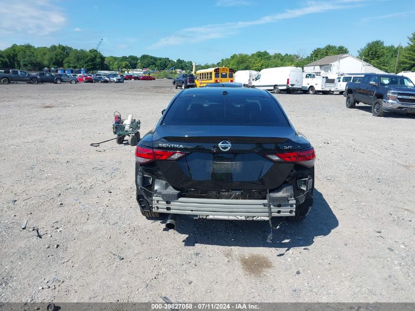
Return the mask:
{"type": "Polygon", "coordinates": [[[0,0],[0,34],[48,35],[64,26],[66,17],[48,0],[0,0]]]}

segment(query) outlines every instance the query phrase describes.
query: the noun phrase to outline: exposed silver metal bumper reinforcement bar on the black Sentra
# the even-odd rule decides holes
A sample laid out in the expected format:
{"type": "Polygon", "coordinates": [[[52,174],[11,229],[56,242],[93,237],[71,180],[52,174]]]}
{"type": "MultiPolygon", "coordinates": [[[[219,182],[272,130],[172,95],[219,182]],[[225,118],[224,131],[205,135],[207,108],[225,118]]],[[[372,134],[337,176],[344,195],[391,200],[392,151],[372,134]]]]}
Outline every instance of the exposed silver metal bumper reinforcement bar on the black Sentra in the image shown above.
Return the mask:
{"type": "MultiPolygon", "coordinates": [[[[267,204],[267,200],[178,198],[165,201],[153,197],[155,212],[197,215],[198,218],[254,220],[260,217],[258,220],[268,220],[267,204]]],[[[295,216],[295,208],[295,198],[285,197],[285,200],[271,202],[272,217],[295,216]]]]}

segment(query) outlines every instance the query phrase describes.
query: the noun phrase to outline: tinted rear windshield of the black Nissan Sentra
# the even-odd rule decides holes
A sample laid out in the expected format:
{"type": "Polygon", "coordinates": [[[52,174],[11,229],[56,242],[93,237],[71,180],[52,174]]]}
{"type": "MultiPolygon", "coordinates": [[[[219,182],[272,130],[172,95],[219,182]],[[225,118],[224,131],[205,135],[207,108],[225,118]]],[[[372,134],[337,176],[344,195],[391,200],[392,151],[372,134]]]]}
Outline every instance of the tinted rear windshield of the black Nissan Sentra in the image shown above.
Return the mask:
{"type": "Polygon", "coordinates": [[[163,124],[289,126],[274,99],[230,95],[178,97],[163,124]]]}

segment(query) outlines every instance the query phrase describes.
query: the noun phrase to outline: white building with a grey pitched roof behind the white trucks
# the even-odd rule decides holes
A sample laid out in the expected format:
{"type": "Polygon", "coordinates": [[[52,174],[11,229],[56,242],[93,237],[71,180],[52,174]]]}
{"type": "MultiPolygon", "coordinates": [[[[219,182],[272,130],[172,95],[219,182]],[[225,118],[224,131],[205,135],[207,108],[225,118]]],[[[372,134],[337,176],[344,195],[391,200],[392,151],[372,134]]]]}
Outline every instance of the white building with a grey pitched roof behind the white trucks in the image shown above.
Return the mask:
{"type": "Polygon", "coordinates": [[[332,55],[313,61],[304,66],[304,72],[313,72],[331,79],[340,73],[385,73],[350,54],[332,55]]]}

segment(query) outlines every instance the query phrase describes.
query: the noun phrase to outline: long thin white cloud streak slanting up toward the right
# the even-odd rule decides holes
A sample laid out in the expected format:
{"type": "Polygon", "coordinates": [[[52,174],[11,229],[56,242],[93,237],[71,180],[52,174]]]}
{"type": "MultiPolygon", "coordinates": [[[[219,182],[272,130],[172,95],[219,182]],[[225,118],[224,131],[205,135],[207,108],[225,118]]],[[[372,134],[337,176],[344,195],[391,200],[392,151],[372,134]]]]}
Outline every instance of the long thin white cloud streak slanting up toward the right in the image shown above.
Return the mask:
{"type": "Polygon", "coordinates": [[[158,42],[150,45],[150,49],[161,48],[183,43],[197,43],[209,39],[224,38],[237,33],[241,28],[275,23],[280,20],[298,18],[304,15],[322,13],[326,11],[341,10],[360,6],[356,2],[360,0],[338,0],[338,1],[308,1],[307,6],[298,9],[286,10],[282,13],[263,16],[253,21],[230,22],[223,24],[210,24],[199,27],[181,29],[177,34],[161,38],[158,42]]]}

